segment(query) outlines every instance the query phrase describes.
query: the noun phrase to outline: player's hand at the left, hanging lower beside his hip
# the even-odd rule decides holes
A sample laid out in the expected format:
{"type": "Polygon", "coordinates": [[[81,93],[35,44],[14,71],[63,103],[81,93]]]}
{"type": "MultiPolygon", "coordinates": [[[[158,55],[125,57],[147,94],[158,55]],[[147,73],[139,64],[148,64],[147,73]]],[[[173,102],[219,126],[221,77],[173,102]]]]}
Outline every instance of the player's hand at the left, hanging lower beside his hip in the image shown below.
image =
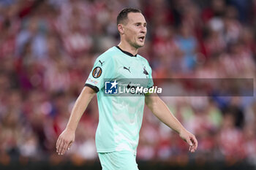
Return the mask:
{"type": "Polygon", "coordinates": [[[64,155],[66,150],[69,150],[72,143],[75,141],[75,131],[70,131],[67,128],[59,135],[56,142],[56,151],[59,155],[64,155]]]}

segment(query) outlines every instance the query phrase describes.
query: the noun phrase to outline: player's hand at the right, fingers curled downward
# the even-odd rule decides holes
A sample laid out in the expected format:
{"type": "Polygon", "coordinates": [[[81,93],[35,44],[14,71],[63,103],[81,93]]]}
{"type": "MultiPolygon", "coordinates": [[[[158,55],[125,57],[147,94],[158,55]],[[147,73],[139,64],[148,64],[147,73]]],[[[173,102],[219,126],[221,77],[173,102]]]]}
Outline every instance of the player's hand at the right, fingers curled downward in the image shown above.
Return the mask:
{"type": "Polygon", "coordinates": [[[189,144],[189,151],[195,152],[195,150],[197,149],[197,139],[195,138],[195,135],[191,134],[185,129],[181,131],[179,136],[181,137],[181,139],[189,144]]]}

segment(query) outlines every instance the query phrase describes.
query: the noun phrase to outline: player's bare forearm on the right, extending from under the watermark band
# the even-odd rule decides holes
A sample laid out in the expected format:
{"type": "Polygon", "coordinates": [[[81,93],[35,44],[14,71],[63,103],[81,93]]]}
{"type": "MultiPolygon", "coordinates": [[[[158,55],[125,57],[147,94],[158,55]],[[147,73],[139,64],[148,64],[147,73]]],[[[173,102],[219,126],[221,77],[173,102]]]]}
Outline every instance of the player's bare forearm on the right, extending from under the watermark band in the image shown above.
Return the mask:
{"type": "Polygon", "coordinates": [[[185,130],[184,126],[174,117],[170,109],[168,109],[166,104],[158,96],[151,97],[147,106],[162,123],[172,128],[173,131],[180,134],[182,130],[185,130]]]}

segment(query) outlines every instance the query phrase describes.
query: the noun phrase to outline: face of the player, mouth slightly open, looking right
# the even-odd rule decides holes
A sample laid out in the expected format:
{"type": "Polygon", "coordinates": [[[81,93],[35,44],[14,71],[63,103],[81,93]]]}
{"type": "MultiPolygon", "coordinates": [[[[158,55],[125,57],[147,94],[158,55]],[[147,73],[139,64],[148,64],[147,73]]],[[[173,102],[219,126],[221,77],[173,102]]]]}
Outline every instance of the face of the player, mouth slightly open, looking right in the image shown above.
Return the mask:
{"type": "Polygon", "coordinates": [[[143,47],[147,32],[144,16],[141,13],[130,12],[122,26],[121,34],[124,36],[125,41],[132,47],[143,47]]]}

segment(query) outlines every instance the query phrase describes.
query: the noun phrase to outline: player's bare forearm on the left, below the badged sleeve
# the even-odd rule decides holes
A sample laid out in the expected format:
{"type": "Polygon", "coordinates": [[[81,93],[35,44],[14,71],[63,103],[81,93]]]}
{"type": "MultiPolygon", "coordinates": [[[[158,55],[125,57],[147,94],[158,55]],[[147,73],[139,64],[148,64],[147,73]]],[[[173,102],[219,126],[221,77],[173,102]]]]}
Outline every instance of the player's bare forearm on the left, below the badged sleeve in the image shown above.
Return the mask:
{"type": "Polygon", "coordinates": [[[89,87],[83,88],[82,92],[80,93],[80,96],[78,96],[78,99],[75,101],[75,105],[72,108],[71,115],[69,117],[69,122],[67,123],[67,129],[70,131],[75,131],[78,127],[78,123],[80,121],[80,118],[83,115],[83,112],[88,107],[88,104],[91,101],[91,98],[93,98],[95,95],[94,90],[92,90],[89,87]]]}

